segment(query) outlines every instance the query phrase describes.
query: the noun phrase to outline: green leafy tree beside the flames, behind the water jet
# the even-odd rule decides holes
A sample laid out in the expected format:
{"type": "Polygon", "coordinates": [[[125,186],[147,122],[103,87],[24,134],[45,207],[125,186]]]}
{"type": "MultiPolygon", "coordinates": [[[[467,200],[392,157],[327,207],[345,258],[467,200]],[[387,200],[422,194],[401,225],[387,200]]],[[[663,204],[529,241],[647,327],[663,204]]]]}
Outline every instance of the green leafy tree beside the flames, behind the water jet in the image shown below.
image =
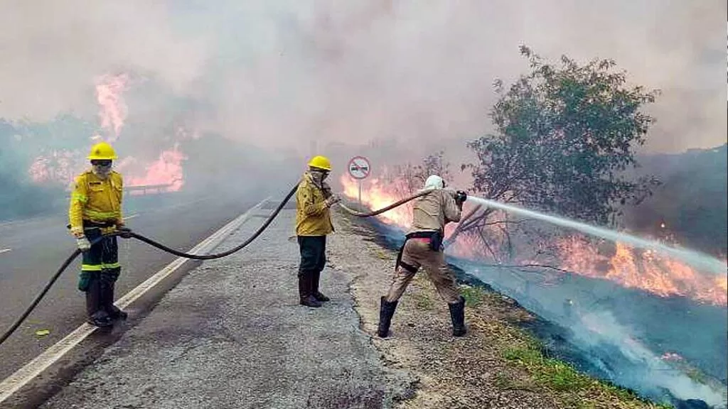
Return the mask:
{"type": "MultiPolygon", "coordinates": [[[[531,72],[507,89],[496,80],[499,98],[490,113],[494,132],[468,143],[478,158],[462,165],[472,174],[472,190],[499,202],[616,224],[622,207],[638,204],[657,184],[627,173],[638,166],[635,149],[654,122],[641,109],[658,92],[629,87],[625,72],[614,71],[613,60],[579,65],[562,56],[556,65],[525,46],[521,55],[529,59],[531,72]]],[[[501,225],[497,236],[512,255],[507,227],[521,221],[507,215],[494,220],[496,214],[480,211],[456,234],[471,230],[486,241],[483,230],[501,225]]]]}

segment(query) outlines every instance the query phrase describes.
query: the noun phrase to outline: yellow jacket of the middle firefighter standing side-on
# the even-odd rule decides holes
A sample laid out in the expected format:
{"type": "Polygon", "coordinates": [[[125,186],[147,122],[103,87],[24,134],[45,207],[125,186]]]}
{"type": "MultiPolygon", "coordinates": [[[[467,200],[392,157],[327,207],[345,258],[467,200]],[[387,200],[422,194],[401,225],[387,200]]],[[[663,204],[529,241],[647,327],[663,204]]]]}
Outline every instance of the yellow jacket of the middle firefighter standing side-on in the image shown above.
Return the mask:
{"type": "Polygon", "coordinates": [[[296,191],[296,235],[325,236],[333,232],[325,200],[323,188],[316,186],[309,172],[304,173],[296,191]]]}

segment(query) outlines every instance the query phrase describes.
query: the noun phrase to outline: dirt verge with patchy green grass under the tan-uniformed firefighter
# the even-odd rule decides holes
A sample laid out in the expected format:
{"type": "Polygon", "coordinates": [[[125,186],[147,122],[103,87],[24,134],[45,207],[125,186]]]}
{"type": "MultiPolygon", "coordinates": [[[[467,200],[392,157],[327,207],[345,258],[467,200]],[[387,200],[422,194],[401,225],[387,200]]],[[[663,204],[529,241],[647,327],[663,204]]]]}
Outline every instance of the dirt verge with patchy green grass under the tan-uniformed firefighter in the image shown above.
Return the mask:
{"type": "Polygon", "coordinates": [[[398,408],[658,407],[534,354],[533,340],[514,325],[531,315],[497,293],[462,287],[470,295],[465,315],[469,333],[454,338],[448,307],[425,271],[400,299],[392,335],[377,337],[379,299],[389,287],[396,254],[375,242],[362,219],[339,212],[334,223],[330,263],[355,273],[350,290],[362,329],[389,368],[417,380],[414,397],[398,402],[398,408]]]}

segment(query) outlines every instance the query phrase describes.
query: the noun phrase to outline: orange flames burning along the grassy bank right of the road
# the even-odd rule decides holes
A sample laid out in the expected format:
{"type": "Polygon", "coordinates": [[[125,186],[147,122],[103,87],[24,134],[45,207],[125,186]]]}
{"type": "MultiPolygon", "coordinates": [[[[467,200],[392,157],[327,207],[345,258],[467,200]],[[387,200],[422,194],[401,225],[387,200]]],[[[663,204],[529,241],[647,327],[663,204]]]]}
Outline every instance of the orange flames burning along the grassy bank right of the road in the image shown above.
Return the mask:
{"type": "MultiPolygon", "coordinates": [[[[344,195],[356,198],[357,184],[347,175],[340,179],[344,195]]],[[[401,181],[400,181],[401,182],[401,181]]],[[[401,188],[402,183],[394,180],[368,180],[362,190],[363,207],[368,210],[380,209],[407,196],[401,188]]],[[[511,226],[523,220],[505,219],[511,226]]],[[[379,217],[379,221],[389,226],[406,228],[411,222],[411,209],[397,207],[379,217]]],[[[489,221],[485,231],[467,231],[459,234],[448,253],[475,261],[491,261],[496,264],[526,266],[553,266],[553,271],[571,272],[593,279],[606,279],[625,288],[636,288],[663,298],[687,297],[701,303],[716,306],[728,304],[728,277],[703,274],[687,264],[668,258],[652,251],[638,250],[622,242],[604,243],[597,239],[573,234],[535,224],[539,230],[549,229],[551,234],[545,239],[534,239],[531,231],[513,228],[506,233],[503,221],[489,221]],[[520,234],[520,235],[519,235],[520,234]]],[[[529,221],[533,224],[533,221],[529,221]]],[[[529,226],[531,226],[529,224],[529,226]]],[[[531,227],[534,227],[531,226],[531,227]]],[[[446,235],[451,236],[454,224],[446,227],[446,235]]],[[[671,240],[671,241],[670,241],[671,240]]],[[[668,244],[677,245],[674,238],[668,244]]]]}

